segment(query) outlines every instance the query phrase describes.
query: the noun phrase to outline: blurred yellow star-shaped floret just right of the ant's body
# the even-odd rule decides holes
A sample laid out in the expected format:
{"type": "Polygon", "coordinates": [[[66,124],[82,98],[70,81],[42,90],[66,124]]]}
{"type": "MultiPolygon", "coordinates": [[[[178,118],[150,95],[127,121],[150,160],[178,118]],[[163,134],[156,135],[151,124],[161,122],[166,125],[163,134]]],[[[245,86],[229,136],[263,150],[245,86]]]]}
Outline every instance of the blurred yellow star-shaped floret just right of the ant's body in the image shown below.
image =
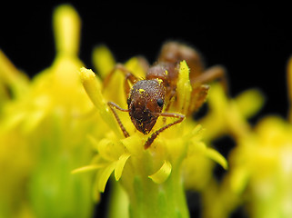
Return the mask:
{"type": "Polygon", "coordinates": [[[256,114],[264,104],[263,95],[257,89],[228,98],[220,84],[212,84],[207,104],[209,111],[198,122],[206,131],[206,140],[211,141],[224,134],[238,138],[250,131],[247,118],[256,114]]]}

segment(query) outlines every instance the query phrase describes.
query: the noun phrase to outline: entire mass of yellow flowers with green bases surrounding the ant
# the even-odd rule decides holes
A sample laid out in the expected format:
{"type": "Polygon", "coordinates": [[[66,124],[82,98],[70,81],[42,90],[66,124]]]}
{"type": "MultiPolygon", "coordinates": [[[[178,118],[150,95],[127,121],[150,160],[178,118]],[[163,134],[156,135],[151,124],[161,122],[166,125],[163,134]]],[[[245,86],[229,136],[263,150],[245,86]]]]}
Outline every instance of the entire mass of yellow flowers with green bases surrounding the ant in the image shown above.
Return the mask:
{"type": "MultiPolygon", "coordinates": [[[[145,149],[149,134],[118,111],[125,137],[108,107],[109,101],[127,107],[125,74],[117,69],[105,82],[116,65],[113,54],[97,46],[96,74],[86,69],[77,55],[76,10],[61,5],[53,18],[55,60],[34,78],[0,51],[1,217],[91,217],[93,199],[100,201],[109,181],[112,218],[189,217],[186,190],[199,193],[203,217],[229,217],[237,208],[251,217],[292,217],[291,109],[290,123],[267,116],[252,126],[248,118],[264,104],[263,94],[250,89],[231,98],[214,82],[206,114],[194,120],[186,111],[192,86],[182,61],[176,104],[168,110],[186,118],[145,149]],[[234,141],[226,157],[214,148],[224,136],[234,141]],[[217,163],[226,170],[220,180],[217,163]]],[[[136,78],[146,75],[139,57],[124,66],[136,78]]],[[[292,59],[287,73],[291,104],[292,59]]],[[[174,119],[159,117],[150,134],[174,119]]]]}

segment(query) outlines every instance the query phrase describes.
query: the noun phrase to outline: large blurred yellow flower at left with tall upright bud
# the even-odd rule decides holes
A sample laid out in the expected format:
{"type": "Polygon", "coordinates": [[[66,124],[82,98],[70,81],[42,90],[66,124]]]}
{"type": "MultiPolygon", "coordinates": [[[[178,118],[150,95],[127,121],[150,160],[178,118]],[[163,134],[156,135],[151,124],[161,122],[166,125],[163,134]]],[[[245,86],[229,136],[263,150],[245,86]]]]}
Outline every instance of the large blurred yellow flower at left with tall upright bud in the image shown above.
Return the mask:
{"type": "Polygon", "coordinates": [[[93,104],[78,75],[83,65],[77,57],[80,24],[72,6],[56,8],[55,61],[32,81],[0,55],[2,84],[13,94],[13,99],[5,99],[0,120],[0,168],[9,170],[0,171],[0,188],[13,192],[0,195],[0,214],[2,205],[12,207],[6,207],[7,211],[20,215],[24,215],[22,210],[30,211],[36,217],[88,217],[92,213],[90,176],[70,174],[92,158],[91,144],[84,135],[98,131],[94,124],[100,120],[98,114],[90,120],[83,116],[93,104]],[[9,198],[16,203],[19,198],[25,206],[14,208],[8,205],[9,198]]]}

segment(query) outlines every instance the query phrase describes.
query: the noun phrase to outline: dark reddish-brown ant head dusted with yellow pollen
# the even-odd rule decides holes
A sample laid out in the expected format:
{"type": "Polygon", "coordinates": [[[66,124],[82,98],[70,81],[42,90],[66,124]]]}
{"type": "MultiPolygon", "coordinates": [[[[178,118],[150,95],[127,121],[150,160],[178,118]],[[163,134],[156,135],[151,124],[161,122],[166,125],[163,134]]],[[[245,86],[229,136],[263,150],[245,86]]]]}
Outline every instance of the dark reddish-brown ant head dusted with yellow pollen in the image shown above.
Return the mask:
{"type": "Polygon", "coordinates": [[[148,134],[165,103],[166,89],[158,80],[141,80],[133,85],[127,99],[129,115],[136,129],[148,134]]]}

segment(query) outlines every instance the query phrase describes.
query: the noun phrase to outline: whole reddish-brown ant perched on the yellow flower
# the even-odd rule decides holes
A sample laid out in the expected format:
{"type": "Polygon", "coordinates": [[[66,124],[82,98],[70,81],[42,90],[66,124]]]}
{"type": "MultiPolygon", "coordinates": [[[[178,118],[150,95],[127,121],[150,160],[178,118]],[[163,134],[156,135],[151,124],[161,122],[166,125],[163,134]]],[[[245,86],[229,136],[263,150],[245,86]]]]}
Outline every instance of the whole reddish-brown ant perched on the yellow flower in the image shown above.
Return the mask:
{"type": "Polygon", "coordinates": [[[125,137],[128,137],[129,134],[115,109],[129,113],[132,123],[143,134],[149,134],[159,116],[176,118],[173,123],[166,124],[151,134],[144,144],[145,149],[154,142],[158,134],[175,124],[181,123],[186,117],[184,114],[162,112],[165,105],[165,111],[168,111],[170,104],[175,102],[171,100],[176,100],[179,63],[183,60],[190,68],[189,76],[193,88],[191,103],[188,108],[188,114],[191,114],[206,101],[206,94],[209,89],[209,86],[206,85],[207,82],[223,78],[222,84],[226,87],[227,83],[223,67],[213,66],[205,71],[201,56],[195,49],[187,45],[178,42],[168,42],[163,45],[155,64],[148,66],[148,64],[145,64],[146,61],[142,63],[146,65],[146,79],[139,80],[123,64],[116,64],[116,67],[104,81],[105,88],[117,69],[125,74],[124,88],[126,96],[128,96],[128,109],[123,109],[113,102],[107,103],[125,137]],[[128,82],[133,84],[132,88],[130,88],[128,82]]]}

